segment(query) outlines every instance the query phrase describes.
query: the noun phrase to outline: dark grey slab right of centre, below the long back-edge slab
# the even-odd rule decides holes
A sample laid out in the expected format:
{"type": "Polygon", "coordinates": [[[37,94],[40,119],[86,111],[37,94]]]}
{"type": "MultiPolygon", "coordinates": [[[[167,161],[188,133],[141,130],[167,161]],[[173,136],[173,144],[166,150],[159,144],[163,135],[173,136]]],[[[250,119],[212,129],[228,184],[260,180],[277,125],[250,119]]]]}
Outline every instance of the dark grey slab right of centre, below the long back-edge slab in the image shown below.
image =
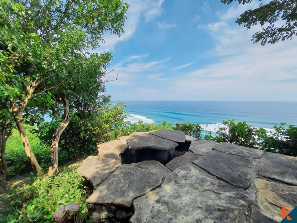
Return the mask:
{"type": "Polygon", "coordinates": [[[252,161],[248,158],[212,150],[193,163],[235,186],[245,189],[250,186],[252,161]]]}

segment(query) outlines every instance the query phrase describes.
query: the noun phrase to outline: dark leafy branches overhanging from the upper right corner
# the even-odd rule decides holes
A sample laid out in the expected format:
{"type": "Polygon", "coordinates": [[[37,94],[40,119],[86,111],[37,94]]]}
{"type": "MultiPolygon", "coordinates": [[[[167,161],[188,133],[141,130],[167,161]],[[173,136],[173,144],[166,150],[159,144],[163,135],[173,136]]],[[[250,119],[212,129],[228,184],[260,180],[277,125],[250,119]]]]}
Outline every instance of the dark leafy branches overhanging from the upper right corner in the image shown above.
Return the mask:
{"type": "MultiPolygon", "coordinates": [[[[238,1],[238,4],[251,3],[253,0],[221,0],[222,3],[230,4],[238,1]]],[[[262,0],[258,0],[261,2],[262,0]]],[[[272,0],[268,4],[259,4],[253,10],[247,10],[236,20],[238,25],[250,29],[252,26],[260,24],[264,26],[261,32],[256,32],[253,43],[261,42],[274,44],[279,40],[289,40],[297,35],[297,3],[296,0],[272,0]],[[281,20],[283,25],[278,26],[277,21],[281,20]]]]}

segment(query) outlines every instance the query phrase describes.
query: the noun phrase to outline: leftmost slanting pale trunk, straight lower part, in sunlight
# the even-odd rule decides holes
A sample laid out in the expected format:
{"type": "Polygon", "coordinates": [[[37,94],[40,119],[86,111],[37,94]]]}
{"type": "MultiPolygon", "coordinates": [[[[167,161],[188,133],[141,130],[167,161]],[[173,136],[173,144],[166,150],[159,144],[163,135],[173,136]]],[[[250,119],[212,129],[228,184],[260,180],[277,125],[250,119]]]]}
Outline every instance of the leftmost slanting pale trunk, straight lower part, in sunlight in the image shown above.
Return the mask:
{"type": "Polygon", "coordinates": [[[31,163],[33,170],[37,173],[37,175],[41,174],[41,168],[37,162],[37,159],[34,156],[31,144],[29,143],[28,136],[26,134],[26,130],[24,128],[23,119],[21,116],[15,117],[16,125],[18,127],[18,131],[20,133],[20,139],[22,140],[26,155],[31,163]]]}

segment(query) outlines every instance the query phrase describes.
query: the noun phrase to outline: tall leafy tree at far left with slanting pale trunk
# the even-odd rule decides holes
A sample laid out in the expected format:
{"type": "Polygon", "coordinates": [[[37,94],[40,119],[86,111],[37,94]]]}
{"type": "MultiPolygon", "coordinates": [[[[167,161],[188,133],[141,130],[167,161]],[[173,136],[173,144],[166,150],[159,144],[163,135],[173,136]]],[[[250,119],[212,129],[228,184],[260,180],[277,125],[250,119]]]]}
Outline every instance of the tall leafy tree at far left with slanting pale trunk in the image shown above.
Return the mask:
{"type": "Polygon", "coordinates": [[[121,35],[128,7],[120,0],[1,2],[0,97],[10,100],[9,109],[35,172],[41,168],[23,125],[26,106],[30,101],[50,104],[52,99],[44,92],[67,79],[67,58],[99,47],[106,31],[121,35]]]}

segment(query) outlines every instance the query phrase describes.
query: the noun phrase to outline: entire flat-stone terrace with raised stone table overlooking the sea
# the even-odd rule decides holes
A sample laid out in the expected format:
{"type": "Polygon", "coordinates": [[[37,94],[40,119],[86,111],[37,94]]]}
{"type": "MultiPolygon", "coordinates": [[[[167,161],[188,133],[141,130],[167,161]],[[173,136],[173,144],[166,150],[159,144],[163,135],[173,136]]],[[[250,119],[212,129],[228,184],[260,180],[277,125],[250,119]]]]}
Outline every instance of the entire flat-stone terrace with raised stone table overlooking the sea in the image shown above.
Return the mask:
{"type": "Polygon", "coordinates": [[[98,145],[78,168],[94,185],[92,221],[276,223],[297,205],[295,157],[189,139],[162,130],[98,145]]]}

